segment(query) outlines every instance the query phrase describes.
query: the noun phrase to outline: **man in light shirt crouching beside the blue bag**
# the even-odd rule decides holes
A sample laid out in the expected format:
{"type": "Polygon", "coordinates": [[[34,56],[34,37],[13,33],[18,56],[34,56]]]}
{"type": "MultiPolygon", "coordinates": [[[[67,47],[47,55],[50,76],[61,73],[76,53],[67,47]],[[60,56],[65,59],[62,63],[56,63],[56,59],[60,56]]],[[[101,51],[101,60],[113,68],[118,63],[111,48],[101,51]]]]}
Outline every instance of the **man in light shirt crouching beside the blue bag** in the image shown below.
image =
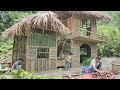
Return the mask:
{"type": "Polygon", "coordinates": [[[102,62],[100,61],[101,58],[97,57],[91,61],[90,67],[92,69],[92,72],[99,72],[101,73],[102,71],[102,62]]]}

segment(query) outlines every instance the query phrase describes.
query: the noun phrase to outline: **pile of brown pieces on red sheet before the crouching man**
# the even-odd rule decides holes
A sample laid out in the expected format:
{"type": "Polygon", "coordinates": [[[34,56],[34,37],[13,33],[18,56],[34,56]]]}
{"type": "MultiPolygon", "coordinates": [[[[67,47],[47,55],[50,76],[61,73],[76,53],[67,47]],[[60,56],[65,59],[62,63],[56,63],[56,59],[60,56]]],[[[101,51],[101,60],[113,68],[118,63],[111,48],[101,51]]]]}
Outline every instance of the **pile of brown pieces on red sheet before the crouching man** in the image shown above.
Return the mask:
{"type": "Polygon", "coordinates": [[[93,72],[92,77],[95,79],[112,79],[114,78],[114,74],[110,71],[103,71],[102,73],[93,72]]]}

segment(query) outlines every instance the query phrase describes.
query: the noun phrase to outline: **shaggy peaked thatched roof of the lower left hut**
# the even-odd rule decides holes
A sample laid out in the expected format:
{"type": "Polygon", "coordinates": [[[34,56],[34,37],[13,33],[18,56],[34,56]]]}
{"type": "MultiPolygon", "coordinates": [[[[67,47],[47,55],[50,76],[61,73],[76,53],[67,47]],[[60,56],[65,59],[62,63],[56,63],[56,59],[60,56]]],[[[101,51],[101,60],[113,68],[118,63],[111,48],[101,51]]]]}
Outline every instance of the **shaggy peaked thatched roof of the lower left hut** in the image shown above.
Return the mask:
{"type": "Polygon", "coordinates": [[[5,30],[2,33],[2,37],[6,40],[10,36],[21,35],[23,32],[27,34],[30,32],[31,28],[47,29],[48,25],[57,33],[70,34],[70,30],[57,19],[57,14],[51,11],[40,11],[34,15],[25,17],[19,23],[5,30]]]}

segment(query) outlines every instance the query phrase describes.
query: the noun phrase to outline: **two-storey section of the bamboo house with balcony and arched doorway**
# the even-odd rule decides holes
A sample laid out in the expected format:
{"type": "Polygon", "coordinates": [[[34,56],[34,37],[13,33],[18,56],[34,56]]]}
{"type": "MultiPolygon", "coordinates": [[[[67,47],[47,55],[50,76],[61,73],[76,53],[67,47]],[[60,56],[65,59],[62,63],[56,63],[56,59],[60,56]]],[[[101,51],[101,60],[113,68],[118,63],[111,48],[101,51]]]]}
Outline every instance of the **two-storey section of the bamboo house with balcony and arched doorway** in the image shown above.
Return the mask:
{"type": "Polygon", "coordinates": [[[111,17],[99,11],[53,11],[72,32],[69,40],[72,67],[79,68],[85,58],[96,58],[97,45],[106,42],[106,37],[97,30],[97,21],[111,21],[111,17]]]}

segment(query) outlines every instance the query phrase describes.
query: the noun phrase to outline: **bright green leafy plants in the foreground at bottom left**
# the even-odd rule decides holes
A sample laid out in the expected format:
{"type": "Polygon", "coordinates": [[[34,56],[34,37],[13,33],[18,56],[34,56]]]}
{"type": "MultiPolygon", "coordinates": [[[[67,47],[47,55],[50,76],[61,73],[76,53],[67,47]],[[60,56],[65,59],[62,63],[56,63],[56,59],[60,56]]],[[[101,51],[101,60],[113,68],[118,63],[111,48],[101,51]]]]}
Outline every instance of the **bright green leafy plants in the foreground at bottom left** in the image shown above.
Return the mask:
{"type": "MultiPolygon", "coordinates": [[[[5,74],[0,74],[0,78],[2,79],[8,79],[9,71],[7,71],[5,74]]],[[[34,72],[27,72],[23,69],[20,70],[12,70],[11,79],[61,79],[61,75],[54,75],[49,76],[47,74],[44,75],[36,75],[34,72]]]]}

